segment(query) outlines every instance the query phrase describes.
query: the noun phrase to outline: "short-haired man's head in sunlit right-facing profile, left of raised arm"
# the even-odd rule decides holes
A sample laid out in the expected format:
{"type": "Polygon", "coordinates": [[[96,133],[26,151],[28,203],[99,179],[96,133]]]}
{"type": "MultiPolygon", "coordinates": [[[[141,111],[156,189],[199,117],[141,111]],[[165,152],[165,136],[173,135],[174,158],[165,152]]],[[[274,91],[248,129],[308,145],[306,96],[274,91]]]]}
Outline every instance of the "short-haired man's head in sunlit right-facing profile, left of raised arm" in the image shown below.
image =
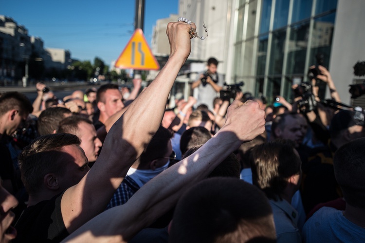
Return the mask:
{"type": "Polygon", "coordinates": [[[92,122],[82,115],[72,115],[59,123],[58,133],[71,133],[80,140],[80,147],[84,150],[89,163],[95,162],[101,146],[103,145],[96,137],[96,131],[92,122]]]}

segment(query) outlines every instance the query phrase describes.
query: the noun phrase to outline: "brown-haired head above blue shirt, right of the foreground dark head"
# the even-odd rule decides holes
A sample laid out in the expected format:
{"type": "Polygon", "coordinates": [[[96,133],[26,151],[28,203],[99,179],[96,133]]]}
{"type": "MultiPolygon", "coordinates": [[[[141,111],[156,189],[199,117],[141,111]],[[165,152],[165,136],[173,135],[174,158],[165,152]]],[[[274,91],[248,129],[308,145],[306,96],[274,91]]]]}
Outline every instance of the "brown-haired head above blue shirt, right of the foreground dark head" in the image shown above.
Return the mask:
{"type": "Polygon", "coordinates": [[[288,179],[301,173],[301,161],[290,141],[275,140],[257,145],[251,152],[252,181],[269,199],[284,192],[288,179]]]}

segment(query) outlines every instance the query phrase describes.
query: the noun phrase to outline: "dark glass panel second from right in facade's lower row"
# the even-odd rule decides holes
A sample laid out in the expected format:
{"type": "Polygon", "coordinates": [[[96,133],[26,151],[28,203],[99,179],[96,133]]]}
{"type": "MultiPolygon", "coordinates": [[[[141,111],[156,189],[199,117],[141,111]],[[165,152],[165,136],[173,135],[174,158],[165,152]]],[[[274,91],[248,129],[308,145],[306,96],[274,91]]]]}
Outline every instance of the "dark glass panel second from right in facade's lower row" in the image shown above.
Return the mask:
{"type": "Polygon", "coordinates": [[[310,23],[294,25],[288,43],[287,74],[303,74],[310,23]]]}

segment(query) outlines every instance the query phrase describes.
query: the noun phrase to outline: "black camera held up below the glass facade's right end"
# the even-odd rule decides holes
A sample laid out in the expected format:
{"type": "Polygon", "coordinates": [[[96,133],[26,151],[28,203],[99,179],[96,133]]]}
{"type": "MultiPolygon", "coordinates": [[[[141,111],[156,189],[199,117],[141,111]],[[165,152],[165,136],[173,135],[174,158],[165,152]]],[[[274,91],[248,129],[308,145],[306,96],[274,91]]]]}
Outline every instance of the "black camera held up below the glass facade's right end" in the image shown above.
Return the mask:
{"type": "Polygon", "coordinates": [[[294,89],[295,97],[301,96],[302,99],[297,101],[298,109],[303,112],[311,112],[317,108],[317,101],[312,93],[312,86],[310,83],[301,83],[294,89]]]}

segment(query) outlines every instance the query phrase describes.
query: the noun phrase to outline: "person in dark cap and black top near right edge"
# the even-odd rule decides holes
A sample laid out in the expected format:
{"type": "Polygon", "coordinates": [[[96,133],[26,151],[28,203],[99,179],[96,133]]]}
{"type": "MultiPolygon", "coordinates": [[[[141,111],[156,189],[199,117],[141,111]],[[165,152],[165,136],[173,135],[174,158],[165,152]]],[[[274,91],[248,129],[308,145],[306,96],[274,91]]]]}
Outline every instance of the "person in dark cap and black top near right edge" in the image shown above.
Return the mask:
{"type": "MultiPolygon", "coordinates": [[[[313,150],[303,166],[302,198],[308,213],[314,206],[342,197],[333,170],[333,155],[340,147],[360,137],[365,137],[364,113],[341,110],[335,114],[329,127],[327,147],[313,150]]],[[[321,135],[321,134],[318,134],[321,135]]]]}

